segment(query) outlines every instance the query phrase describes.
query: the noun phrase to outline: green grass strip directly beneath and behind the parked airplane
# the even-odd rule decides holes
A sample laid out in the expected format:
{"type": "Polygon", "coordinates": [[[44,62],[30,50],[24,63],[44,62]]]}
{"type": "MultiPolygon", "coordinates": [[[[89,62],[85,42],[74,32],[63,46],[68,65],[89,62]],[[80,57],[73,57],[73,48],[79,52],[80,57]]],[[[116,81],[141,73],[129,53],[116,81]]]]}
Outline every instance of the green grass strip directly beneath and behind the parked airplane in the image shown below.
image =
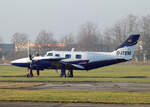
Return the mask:
{"type": "MultiPolygon", "coordinates": [[[[33,71],[36,76],[36,71],[33,71]]],[[[134,82],[150,83],[150,66],[142,64],[121,64],[94,69],[74,71],[74,78],[60,78],[60,70],[44,70],[40,77],[26,78],[26,69],[13,66],[0,66],[0,81],[4,82],[134,82]]]]}

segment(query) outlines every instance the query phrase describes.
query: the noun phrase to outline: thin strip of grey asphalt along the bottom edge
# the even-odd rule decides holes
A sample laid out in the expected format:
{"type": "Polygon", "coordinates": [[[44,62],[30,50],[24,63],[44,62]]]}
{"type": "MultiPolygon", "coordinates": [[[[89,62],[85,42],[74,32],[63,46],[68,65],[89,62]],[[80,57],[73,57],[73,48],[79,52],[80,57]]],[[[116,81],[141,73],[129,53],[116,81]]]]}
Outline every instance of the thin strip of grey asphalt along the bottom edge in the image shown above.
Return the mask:
{"type": "Polygon", "coordinates": [[[140,104],[91,104],[91,103],[41,103],[41,102],[0,102],[0,107],[150,107],[140,104]]]}

